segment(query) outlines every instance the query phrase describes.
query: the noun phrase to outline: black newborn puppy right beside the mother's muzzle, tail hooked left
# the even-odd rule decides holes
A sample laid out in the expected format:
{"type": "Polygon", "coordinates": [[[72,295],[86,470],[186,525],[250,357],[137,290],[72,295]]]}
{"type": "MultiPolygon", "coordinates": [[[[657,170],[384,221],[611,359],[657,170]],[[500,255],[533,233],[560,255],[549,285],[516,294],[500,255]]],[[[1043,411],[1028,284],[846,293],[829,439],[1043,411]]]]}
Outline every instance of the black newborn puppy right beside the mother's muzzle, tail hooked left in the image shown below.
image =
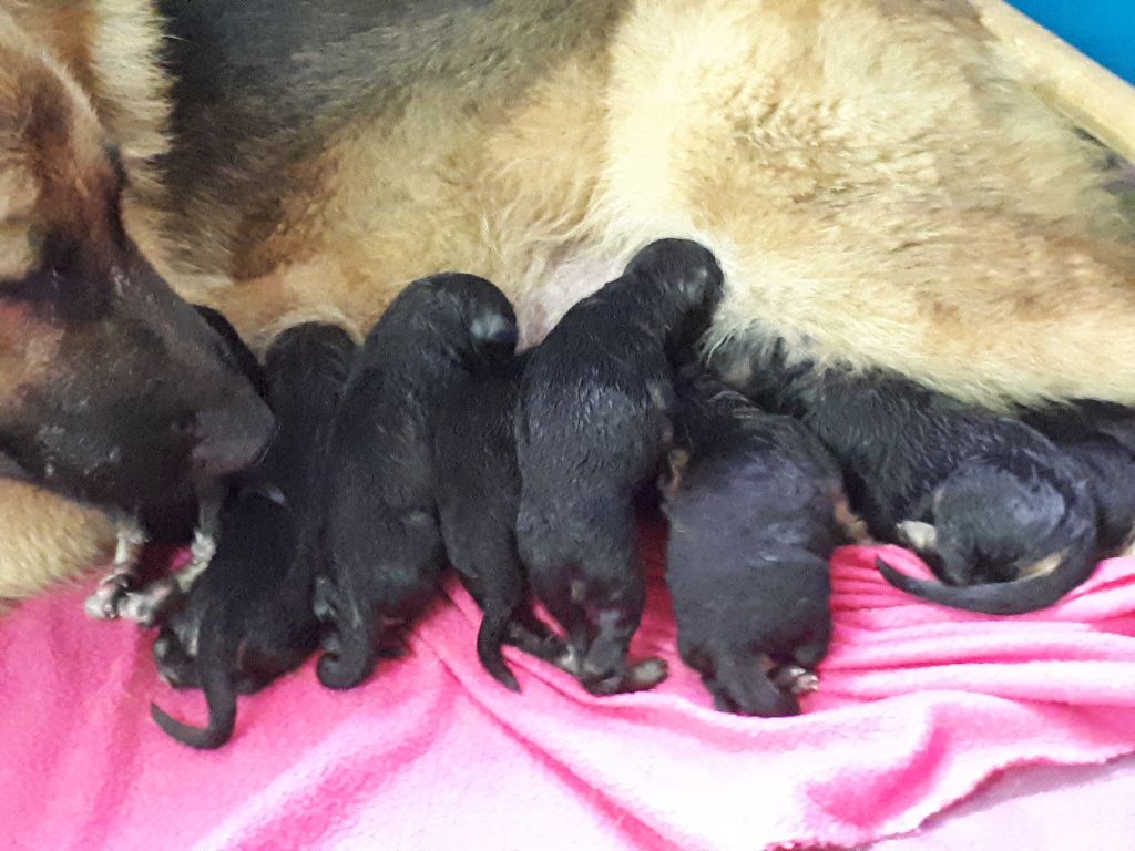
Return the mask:
{"type": "Polygon", "coordinates": [[[236,693],[264,686],[318,646],[311,544],[321,505],[320,447],[354,348],[340,328],[309,323],[284,331],[268,351],[267,399],[279,431],[261,463],[238,479],[221,511],[216,556],[154,644],[167,679],[204,689],[203,730],[151,707],[162,730],[194,748],[228,741],[236,693]]]}

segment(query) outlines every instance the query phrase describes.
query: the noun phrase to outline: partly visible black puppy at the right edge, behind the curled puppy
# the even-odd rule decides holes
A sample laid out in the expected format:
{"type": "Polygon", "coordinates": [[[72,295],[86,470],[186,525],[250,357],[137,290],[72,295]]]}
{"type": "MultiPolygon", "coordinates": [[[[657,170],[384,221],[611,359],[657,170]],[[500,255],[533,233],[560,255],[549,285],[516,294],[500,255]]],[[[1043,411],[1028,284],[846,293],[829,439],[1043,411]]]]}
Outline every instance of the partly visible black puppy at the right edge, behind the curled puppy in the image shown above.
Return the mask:
{"type": "Polygon", "coordinates": [[[1098,544],[1116,555],[1135,530],[1135,412],[1103,402],[1029,411],[1022,420],[1079,462],[1099,507],[1098,544]]]}

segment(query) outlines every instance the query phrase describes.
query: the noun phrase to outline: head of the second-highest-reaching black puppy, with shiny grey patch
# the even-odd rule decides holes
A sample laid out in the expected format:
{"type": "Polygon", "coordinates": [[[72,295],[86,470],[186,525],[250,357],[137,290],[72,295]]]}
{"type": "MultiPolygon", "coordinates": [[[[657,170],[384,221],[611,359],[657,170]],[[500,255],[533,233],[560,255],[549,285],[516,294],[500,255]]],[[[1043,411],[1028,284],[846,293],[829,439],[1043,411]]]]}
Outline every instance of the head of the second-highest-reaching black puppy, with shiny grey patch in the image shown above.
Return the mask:
{"type": "Polygon", "coordinates": [[[414,281],[420,317],[462,359],[507,360],[516,351],[516,314],[496,286],[476,275],[446,272],[414,281]]]}

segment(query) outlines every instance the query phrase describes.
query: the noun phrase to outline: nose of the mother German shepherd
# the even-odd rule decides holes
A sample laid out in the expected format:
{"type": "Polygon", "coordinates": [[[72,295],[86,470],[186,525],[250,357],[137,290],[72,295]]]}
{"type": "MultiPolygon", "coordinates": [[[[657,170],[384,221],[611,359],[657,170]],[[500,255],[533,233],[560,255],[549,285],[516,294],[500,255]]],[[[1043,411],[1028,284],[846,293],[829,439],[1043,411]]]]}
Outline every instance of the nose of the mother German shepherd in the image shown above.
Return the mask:
{"type": "Polygon", "coordinates": [[[200,439],[193,448],[195,473],[217,479],[260,461],[276,433],[276,420],[261,399],[249,396],[238,403],[197,414],[200,439]]]}

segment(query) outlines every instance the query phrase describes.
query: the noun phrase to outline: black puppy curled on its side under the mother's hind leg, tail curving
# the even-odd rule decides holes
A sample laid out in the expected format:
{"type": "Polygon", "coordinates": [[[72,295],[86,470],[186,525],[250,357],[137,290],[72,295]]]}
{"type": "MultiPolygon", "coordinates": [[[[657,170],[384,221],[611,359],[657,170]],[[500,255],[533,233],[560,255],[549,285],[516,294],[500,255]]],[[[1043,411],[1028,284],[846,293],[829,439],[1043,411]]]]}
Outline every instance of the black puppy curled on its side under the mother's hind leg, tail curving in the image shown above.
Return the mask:
{"type": "Polygon", "coordinates": [[[782,390],[835,453],[872,532],[950,585],[884,578],[919,597],[1011,615],[1051,606],[1094,570],[1087,477],[1045,437],[893,377],[838,372],[782,390]]]}

